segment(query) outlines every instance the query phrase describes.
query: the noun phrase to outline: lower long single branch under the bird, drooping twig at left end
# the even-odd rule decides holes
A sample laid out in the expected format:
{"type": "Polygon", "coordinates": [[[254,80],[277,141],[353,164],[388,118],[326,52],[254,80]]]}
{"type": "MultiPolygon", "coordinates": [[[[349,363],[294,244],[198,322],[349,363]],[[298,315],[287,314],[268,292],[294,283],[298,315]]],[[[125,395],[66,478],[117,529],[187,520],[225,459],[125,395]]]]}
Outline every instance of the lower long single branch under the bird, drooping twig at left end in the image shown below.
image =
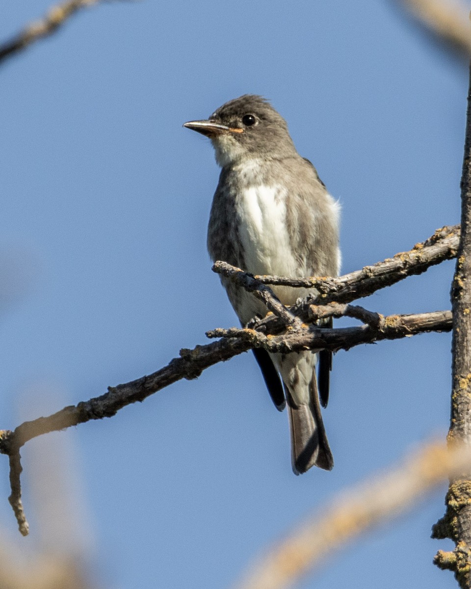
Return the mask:
{"type": "MultiPolygon", "coordinates": [[[[153,393],[160,391],[182,378],[197,378],[201,372],[222,360],[228,360],[248,349],[263,346],[272,352],[292,352],[304,349],[349,349],[361,343],[372,343],[382,339],[409,337],[430,331],[449,331],[452,316],[449,311],[422,313],[419,315],[393,315],[383,317],[376,327],[363,325],[342,329],[320,329],[309,326],[302,330],[293,330],[286,335],[267,337],[253,329],[234,330],[236,337],[228,337],[206,346],[197,346],[193,350],[180,350],[180,358],[174,358],[164,368],[138,380],[108,388],[105,395],[95,397],[61,409],[48,417],[26,421],[13,432],[2,431],[0,434],[0,453],[18,457],[19,448],[36,436],[47,434],[78,425],[92,419],[102,419],[115,415],[120,409],[137,401],[144,401],[153,393]]],[[[226,335],[226,334],[224,334],[226,335]]],[[[12,498],[16,505],[15,515],[22,534],[28,533],[28,524],[21,506],[21,488],[16,459],[11,475],[12,498]]]]}

